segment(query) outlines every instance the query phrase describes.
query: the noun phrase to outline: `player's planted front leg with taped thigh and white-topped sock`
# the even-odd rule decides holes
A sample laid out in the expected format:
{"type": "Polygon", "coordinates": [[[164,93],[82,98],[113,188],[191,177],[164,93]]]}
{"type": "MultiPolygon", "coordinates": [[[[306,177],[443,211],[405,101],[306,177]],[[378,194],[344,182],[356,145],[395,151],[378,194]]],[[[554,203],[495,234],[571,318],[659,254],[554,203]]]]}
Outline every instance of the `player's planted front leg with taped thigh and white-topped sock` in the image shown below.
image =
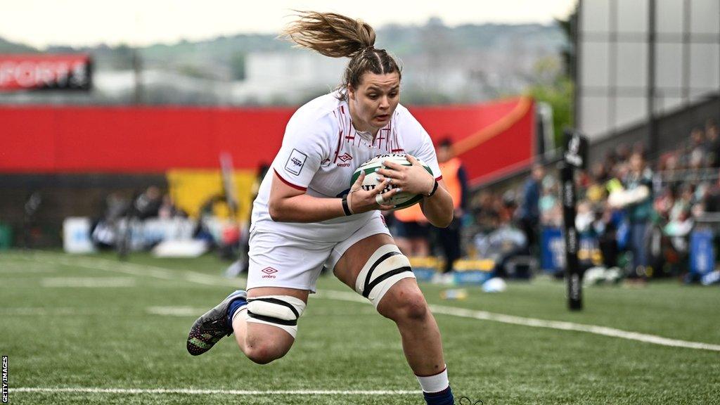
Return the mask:
{"type": "MultiPolygon", "coordinates": [[[[395,321],[408,365],[418,377],[428,404],[453,404],[438,325],[403,256],[387,233],[336,246],[336,277],[369,298],[395,321]],[[338,249],[339,248],[339,249],[338,249]]],[[[333,257],[331,257],[333,259],[333,257]]]]}

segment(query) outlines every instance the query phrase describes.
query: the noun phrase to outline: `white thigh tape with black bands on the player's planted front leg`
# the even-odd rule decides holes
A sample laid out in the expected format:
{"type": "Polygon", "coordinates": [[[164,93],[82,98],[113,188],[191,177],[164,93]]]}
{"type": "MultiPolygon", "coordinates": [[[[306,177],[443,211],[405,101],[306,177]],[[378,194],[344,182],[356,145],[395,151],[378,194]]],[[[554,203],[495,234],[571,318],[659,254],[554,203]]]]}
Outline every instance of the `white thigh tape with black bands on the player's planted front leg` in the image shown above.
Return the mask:
{"type": "Polygon", "coordinates": [[[410,260],[393,244],[380,246],[365,263],[355,282],[355,290],[377,308],[382,296],[403,278],[415,278],[410,260]]]}

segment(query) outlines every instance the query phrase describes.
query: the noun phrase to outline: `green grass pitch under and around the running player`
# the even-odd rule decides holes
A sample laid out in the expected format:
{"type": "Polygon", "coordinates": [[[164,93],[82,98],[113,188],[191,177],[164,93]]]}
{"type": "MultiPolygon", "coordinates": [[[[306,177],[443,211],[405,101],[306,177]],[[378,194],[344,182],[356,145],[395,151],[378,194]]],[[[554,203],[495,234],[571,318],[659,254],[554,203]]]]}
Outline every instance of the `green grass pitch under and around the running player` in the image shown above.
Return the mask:
{"type": "MultiPolygon", "coordinates": [[[[366,303],[322,294],[351,296],[333,277],[320,278],[321,293],[310,298],[297,342],[281,360],[254,365],[233,339],[190,356],[194,319],[244,287],[220,277],[226,266],[210,255],[135,254],[123,263],[107,254],[0,252],[9,403],[423,404],[395,325],[366,303]],[[109,388],[119,391],[102,391],[109,388]],[[307,392],[278,393],[295,390],[307,392]]],[[[671,280],[587,288],[585,310],[572,313],[564,284],[544,278],[510,282],[499,294],[468,288],[464,301],[441,300],[446,287],[421,286],[429,303],[444,307],[720,344],[717,287],[671,280]]],[[[456,400],[467,396],[467,404],[720,404],[720,351],[445,313],[436,319],[456,400]]]]}

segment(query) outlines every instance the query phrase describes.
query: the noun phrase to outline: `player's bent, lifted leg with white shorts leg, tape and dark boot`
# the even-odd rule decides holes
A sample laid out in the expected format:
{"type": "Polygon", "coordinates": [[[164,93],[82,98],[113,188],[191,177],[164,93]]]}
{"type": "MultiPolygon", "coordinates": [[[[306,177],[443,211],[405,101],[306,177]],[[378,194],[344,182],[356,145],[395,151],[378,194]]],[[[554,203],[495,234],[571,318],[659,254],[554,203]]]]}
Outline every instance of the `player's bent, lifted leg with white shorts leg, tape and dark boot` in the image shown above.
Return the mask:
{"type": "Polygon", "coordinates": [[[251,232],[248,292],[235,291],[197,319],[187,350],[201,355],[234,333],[238,347],[253,362],[266,364],[284,356],[333,246],[282,233],[251,232]]]}

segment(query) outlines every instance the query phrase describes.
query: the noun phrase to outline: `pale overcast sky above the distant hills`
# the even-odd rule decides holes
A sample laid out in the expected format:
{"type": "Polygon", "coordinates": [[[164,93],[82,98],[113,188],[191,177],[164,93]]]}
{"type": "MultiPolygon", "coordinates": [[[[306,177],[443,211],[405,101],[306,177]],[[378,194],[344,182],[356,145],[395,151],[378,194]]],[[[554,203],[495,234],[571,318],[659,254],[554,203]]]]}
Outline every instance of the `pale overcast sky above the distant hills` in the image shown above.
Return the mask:
{"type": "Polygon", "coordinates": [[[237,33],[276,33],[292,9],[332,11],[374,27],[485,22],[552,22],[577,0],[2,0],[0,37],[47,45],[148,45],[204,40],[237,33]]]}

